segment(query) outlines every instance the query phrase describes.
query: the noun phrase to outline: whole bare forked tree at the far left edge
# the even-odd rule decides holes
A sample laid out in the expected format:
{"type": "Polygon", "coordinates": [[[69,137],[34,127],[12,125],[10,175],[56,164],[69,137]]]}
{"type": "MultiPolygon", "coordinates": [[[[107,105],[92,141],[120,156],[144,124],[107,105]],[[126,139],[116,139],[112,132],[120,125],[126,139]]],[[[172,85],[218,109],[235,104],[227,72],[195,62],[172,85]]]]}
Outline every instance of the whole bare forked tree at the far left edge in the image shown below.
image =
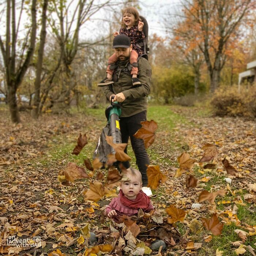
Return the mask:
{"type": "Polygon", "coordinates": [[[11,113],[11,120],[14,123],[19,123],[20,116],[16,101],[16,91],[22,83],[22,79],[27,71],[27,68],[29,67],[31,57],[34,53],[36,37],[36,0],[31,1],[31,26],[27,32],[26,39],[24,40],[18,57],[16,56],[17,39],[20,19],[24,8],[24,0],[21,2],[17,24],[16,8],[17,6],[15,4],[15,0],[6,1],[6,34],[4,40],[0,35],[0,47],[4,59],[7,97],[11,113]]]}

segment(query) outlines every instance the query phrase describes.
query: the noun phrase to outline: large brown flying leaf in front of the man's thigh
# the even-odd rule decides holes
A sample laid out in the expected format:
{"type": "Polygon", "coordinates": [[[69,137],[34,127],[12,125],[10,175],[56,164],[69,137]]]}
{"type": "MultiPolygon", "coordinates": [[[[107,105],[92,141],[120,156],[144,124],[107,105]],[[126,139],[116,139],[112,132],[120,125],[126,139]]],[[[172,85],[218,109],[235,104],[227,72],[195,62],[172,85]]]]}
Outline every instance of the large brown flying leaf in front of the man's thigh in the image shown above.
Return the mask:
{"type": "Polygon", "coordinates": [[[152,145],[155,140],[157,123],[154,120],[140,122],[142,127],[133,135],[137,139],[143,139],[145,148],[152,145]]]}

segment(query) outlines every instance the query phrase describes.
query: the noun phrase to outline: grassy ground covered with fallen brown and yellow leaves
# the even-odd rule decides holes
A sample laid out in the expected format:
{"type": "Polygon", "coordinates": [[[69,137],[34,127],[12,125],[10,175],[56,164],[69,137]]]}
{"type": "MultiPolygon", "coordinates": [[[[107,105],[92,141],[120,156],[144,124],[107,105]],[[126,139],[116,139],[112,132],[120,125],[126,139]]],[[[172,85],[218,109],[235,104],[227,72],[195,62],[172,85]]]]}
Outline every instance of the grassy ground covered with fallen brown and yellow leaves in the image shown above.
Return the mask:
{"type": "MultiPolygon", "coordinates": [[[[159,165],[168,180],[159,186],[152,198],[157,214],[140,216],[137,224],[141,233],[136,238],[131,235],[129,239],[124,238],[127,230],[120,236],[123,227],[114,227],[110,221],[105,221],[104,225],[99,222],[100,208],[108,204],[111,198],[104,197],[98,203],[83,202],[80,194],[84,189],[89,189],[87,179],[66,186],[57,179],[58,173],[69,161],[82,163],[81,158],[71,154],[80,132],[87,133],[88,137],[88,145],[80,155],[91,158],[105,125],[103,114],[87,117],[80,114],[51,115],[39,121],[33,121],[24,114],[23,123],[19,125],[4,119],[6,112],[1,114],[0,252],[9,255],[85,255],[85,248],[90,246],[88,239],[84,240],[84,236],[81,236],[81,228],[90,223],[91,231],[95,232],[98,242],[102,244],[116,241],[117,247],[120,245],[124,248],[122,238],[132,248],[132,243],[138,245],[136,239],[144,241],[144,245],[139,245],[141,247],[133,248],[134,255],[142,253],[138,248],[150,245],[155,238],[164,240],[168,248],[159,253],[153,251],[151,255],[215,255],[217,249],[218,253],[222,252],[219,255],[237,255],[239,248],[238,252],[253,255],[251,248],[255,249],[256,237],[255,123],[242,118],[199,117],[195,109],[172,107],[176,116],[183,118],[174,118],[174,125],[170,127],[165,125],[168,116],[155,114],[156,108],[152,107],[149,115],[160,125],[148,153],[151,165],[159,165]],[[214,169],[204,169],[206,163],[200,163],[204,154],[203,146],[207,143],[216,145],[219,152],[210,161],[215,164],[214,169]],[[195,160],[195,164],[193,169],[174,178],[180,167],[177,159],[184,151],[195,160]],[[230,176],[225,171],[222,165],[225,157],[237,170],[237,176],[230,176]],[[196,188],[186,187],[187,174],[198,179],[196,188]],[[227,178],[229,182],[224,180],[227,178]],[[217,196],[214,204],[198,202],[202,191],[216,192],[220,189],[224,189],[226,195],[217,196]],[[185,211],[186,217],[182,223],[170,225],[166,222],[165,209],[169,206],[185,211]],[[211,231],[202,228],[200,221],[201,218],[209,219],[215,213],[224,224],[220,236],[214,236],[211,231]],[[41,247],[6,246],[7,236],[40,236],[41,247]],[[240,240],[242,244],[232,244],[240,240]]],[[[170,107],[161,108],[170,111],[170,107]]],[[[131,155],[131,149],[128,152],[131,155]]],[[[134,156],[132,165],[135,167],[134,156]]],[[[148,251],[145,248],[146,255],[148,251]]],[[[125,251],[117,253],[124,255],[125,251]]]]}

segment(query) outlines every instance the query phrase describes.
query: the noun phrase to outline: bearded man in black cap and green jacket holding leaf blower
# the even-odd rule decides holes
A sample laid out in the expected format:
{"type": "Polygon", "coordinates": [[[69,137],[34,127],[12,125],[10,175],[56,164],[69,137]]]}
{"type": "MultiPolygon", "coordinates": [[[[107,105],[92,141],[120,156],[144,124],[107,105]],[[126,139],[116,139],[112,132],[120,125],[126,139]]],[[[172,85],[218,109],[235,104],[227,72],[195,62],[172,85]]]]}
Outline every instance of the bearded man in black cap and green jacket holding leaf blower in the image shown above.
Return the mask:
{"type": "MultiPolygon", "coordinates": [[[[136,157],[136,163],[142,174],[142,191],[146,195],[152,195],[151,189],[147,187],[147,165],[150,164],[147,151],[142,139],[136,139],[133,135],[141,128],[141,121],[147,120],[147,99],[151,86],[151,68],[148,61],[144,58],[139,59],[139,79],[140,86],[132,85],[132,76],[128,70],[129,56],[132,45],[127,35],[117,35],[113,40],[113,47],[118,58],[114,70],[113,81],[110,86],[102,87],[106,97],[111,101],[122,102],[120,116],[120,130],[122,134],[122,142],[128,143],[130,138],[132,149],[136,157]]],[[[125,149],[127,153],[127,148],[125,149]]],[[[123,163],[129,168],[129,162],[123,163]]]]}

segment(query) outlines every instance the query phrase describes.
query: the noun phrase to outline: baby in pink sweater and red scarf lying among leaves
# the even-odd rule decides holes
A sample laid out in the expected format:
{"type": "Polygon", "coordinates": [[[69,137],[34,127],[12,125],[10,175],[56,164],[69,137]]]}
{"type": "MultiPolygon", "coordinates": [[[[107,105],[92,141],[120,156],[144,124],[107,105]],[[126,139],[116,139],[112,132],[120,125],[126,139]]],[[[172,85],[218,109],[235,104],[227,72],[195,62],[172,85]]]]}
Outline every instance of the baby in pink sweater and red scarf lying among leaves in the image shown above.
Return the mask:
{"type": "Polygon", "coordinates": [[[129,168],[121,180],[118,197],[114,197],[110,204],[106,206],[105,216],[119,222],[122,215],[136,215],[139,209],[150,212],[154,206],[150,202],[150,197],[142,190],[142,176],[139,170],[129,168]]]}

